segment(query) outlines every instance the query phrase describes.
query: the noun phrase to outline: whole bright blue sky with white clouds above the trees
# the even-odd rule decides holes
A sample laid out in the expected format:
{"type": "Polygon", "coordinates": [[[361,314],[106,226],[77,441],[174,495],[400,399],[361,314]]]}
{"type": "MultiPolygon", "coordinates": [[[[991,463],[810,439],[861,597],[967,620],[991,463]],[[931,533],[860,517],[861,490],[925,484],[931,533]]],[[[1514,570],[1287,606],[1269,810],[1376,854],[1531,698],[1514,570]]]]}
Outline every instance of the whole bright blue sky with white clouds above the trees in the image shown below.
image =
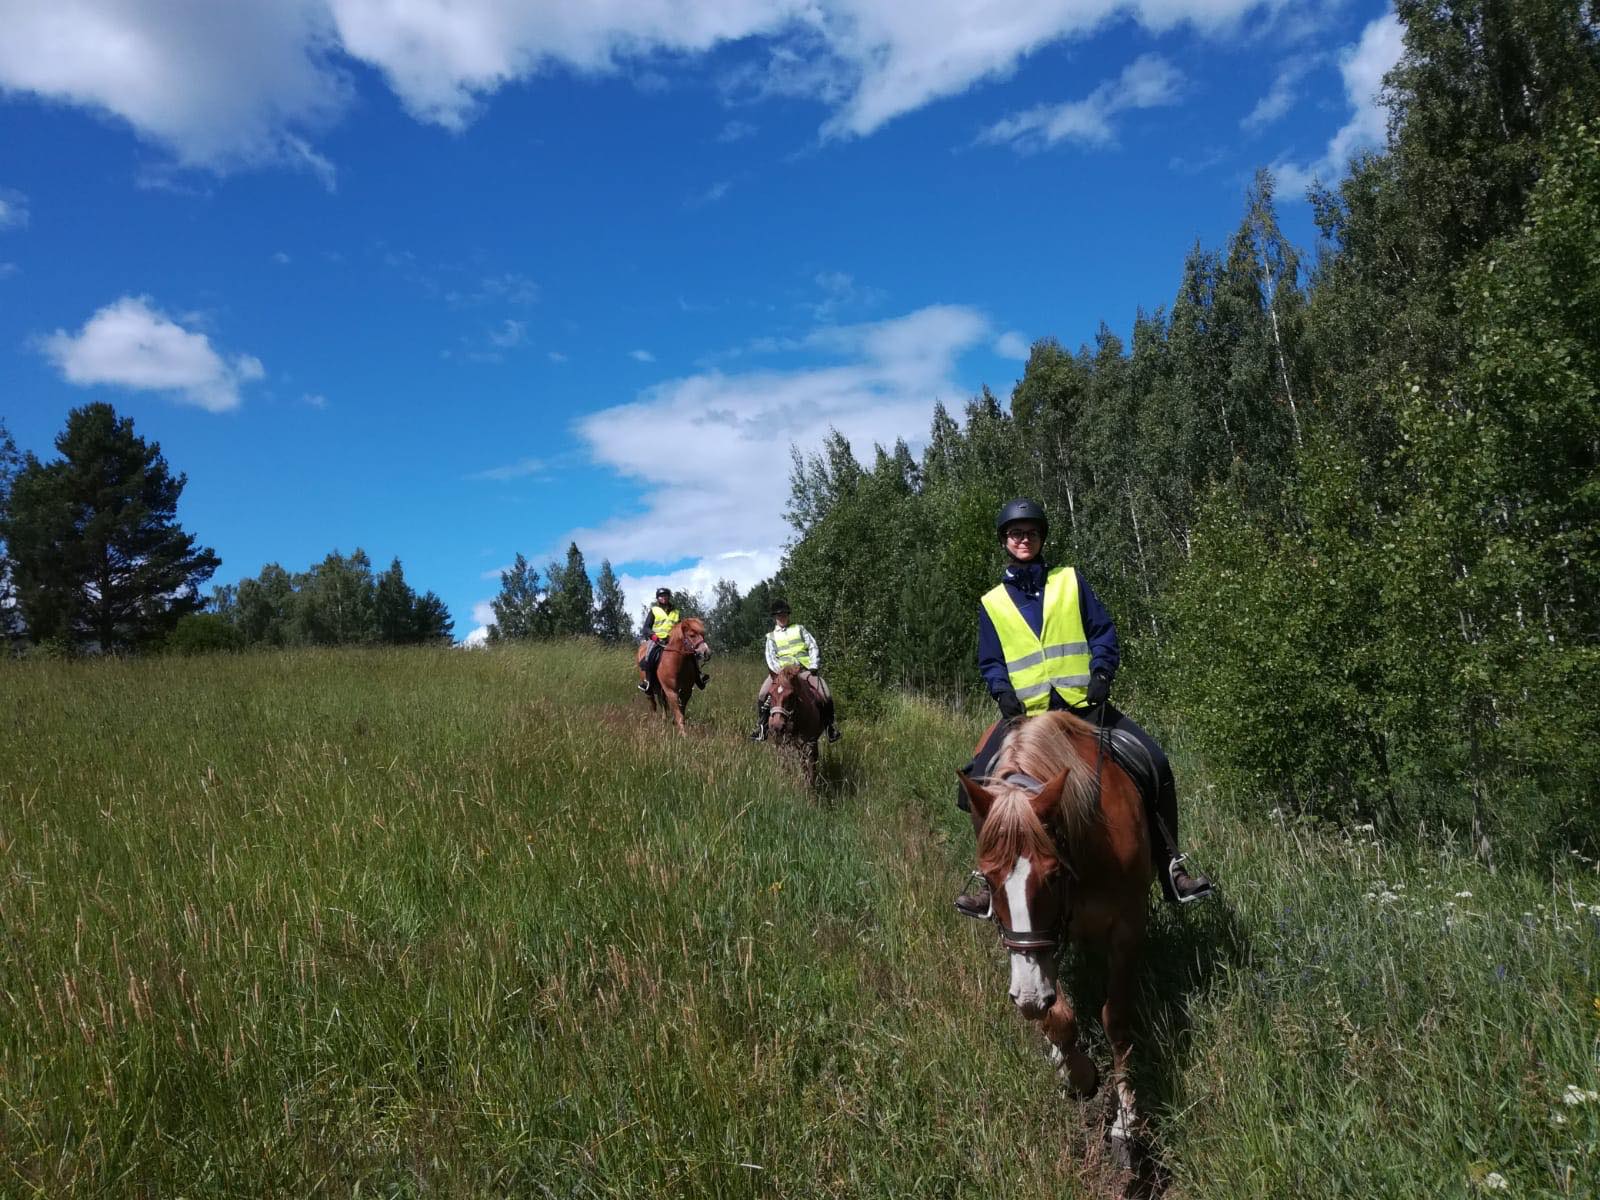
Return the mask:
{"type": "Polygon", "coordinates": [[[109,400],[214,582],[398,555],[458,637],[578,539],[776,568],[789,448],[918,446],[1381,142],[1370,0],[0,0],[0,418],[109,400]]]}

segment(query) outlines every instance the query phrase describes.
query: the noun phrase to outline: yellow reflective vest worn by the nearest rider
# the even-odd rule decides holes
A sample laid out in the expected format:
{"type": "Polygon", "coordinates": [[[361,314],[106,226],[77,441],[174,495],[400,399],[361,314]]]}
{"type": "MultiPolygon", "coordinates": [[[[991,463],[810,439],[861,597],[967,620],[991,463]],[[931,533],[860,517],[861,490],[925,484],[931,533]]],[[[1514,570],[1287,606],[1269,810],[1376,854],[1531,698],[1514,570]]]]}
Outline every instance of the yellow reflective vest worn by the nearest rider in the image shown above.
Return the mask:
{"type": "Polygon", "coordinates": [[[984,611],[1000,635],[1006,675],[1029,717],[1050,709],[1051,690],[1072,707],[1088,701],[1090,643],[1075,570],[1056,566],[1045,578],[1045,619],[1038,634],[1029,629],[1005,584],[984,594],[984,611]]]}

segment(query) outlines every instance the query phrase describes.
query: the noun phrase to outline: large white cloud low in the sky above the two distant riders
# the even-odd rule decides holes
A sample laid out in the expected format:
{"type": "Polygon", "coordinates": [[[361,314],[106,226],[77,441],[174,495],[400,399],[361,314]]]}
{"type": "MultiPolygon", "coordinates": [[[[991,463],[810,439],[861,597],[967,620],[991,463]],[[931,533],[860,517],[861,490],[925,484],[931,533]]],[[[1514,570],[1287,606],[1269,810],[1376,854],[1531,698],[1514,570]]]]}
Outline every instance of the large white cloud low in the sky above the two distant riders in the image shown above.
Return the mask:
{"type": "Polygon", "coordinates": [[[624,581],[630,603],[662,581],[707,594],[718,578],[749,587],[771,574],[789,534],[790,445],[814,451],[830,427],[862,454],[874,443],[920,442],[934,402],[966,394],[955,362],[992,336],[981,312],[960,306],[822,326],[797,346],[821,365],[704,371],[592,413],[578,435],[597,464],[643,485],[643,512],[570,531],[560,544],[576,541],[590,562],[634,565],[624,581]],[[690,565],[637,570],[682,562],[690,565]]]}

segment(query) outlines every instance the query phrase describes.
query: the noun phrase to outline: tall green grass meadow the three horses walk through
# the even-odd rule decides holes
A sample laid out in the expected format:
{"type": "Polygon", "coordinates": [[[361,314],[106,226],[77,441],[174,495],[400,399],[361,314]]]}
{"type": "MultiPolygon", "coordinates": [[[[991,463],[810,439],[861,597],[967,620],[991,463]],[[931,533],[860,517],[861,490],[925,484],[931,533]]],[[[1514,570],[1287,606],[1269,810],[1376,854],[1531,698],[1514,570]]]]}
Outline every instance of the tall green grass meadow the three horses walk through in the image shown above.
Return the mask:
{"type": "MultiPolygon", "coordinates": [[[[0,1192],[1126,1186],[949,907],[979,720],[845,714],[811,797],[744,741],[755,664],[683,739],[629,675],[579,645],[0,669],[0,1192]]],[[[1179,786],[1226,894],[1154,925],[1157,1190],[1600,1195],[1594,864],[1491,875],[1179,786]]]]}

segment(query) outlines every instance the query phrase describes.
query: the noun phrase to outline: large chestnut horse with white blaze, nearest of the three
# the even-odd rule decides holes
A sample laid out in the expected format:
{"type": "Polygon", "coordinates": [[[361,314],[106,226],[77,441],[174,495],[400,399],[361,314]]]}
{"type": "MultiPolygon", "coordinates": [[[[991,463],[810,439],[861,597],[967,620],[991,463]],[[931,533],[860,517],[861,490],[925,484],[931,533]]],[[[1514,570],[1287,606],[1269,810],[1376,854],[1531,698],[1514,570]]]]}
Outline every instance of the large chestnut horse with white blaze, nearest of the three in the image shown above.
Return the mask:
{"type": "Polygon", "coordinates": [[[992,917],[1011,952],[1011,1000],[1042,1024],[1051,1062],[1082,1098],[1099,1088],[1099,1072],[1056,987],[1056,960],[1069,941],[1107,952],[1101,1024],[1117,1085],[1110,1139],[1128,1165],[1139,1126],[1128,1082],[1134,970],[1154,877],[1139,789],[1101,754],[1094,726],[1067,712],[1019,722],[987,779],[960,779],[978,827],[978,867],[994,891],[992,917]]]}

